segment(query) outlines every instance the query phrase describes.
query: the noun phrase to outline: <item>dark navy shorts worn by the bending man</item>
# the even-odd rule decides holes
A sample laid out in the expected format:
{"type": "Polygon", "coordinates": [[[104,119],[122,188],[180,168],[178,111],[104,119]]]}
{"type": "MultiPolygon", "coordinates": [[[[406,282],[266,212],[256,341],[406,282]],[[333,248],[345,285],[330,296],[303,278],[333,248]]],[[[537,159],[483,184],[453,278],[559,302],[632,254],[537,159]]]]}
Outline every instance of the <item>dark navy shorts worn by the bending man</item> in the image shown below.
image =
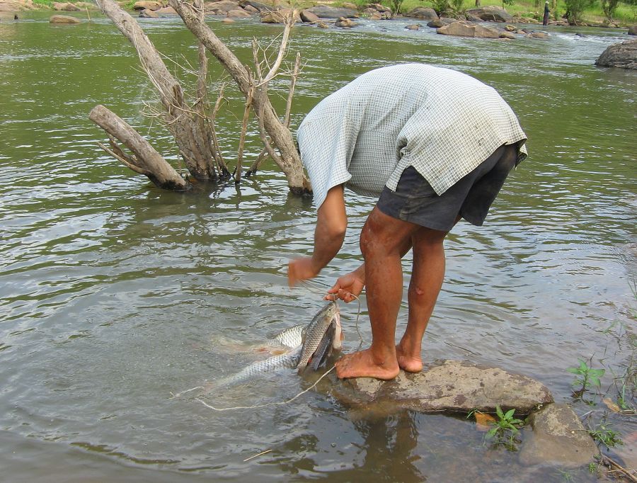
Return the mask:
{"type": "Polygon", "coordinates": [[[516,160],[517,144],[500,146],[440,196],[413,166],[408,166],[395,192],[384,188],[377,208],[398,220],[443,232],[452,229],[458,216],[482,226],[516,160]]]}

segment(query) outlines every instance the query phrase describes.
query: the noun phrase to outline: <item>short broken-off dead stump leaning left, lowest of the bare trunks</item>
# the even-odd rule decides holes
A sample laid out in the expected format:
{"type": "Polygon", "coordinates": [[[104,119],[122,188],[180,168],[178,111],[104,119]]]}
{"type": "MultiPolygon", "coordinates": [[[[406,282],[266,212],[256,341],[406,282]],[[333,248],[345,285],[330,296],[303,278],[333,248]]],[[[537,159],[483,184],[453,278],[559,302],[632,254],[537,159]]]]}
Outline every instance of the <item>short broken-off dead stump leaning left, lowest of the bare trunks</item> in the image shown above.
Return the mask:
{"type": "Polygon", "coordinates": [[[161,154],[156,152],[144,137],[140,136],[125,120],[117,117],[115,113],[100,105],[91,110],[88,118],[108,132],[112,149],[100,144],[105,152],[122,161],[136,173],[148,176],[159,188],[168,190],[189,188],[188,182],[175,171],[173,166],[168,164],[168,161],[163,159],[161,154]],[[114,138],[130,149],[133,155],[125,154],[114,138]]]}

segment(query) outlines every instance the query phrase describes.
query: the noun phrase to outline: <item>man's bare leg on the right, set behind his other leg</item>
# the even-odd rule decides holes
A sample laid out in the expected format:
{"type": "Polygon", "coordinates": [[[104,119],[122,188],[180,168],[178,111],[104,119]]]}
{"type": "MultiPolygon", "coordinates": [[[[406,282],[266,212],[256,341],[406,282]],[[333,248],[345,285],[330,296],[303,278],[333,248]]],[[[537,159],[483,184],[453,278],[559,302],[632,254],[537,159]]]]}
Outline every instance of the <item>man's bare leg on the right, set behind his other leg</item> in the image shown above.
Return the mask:
{"type": "Polygon", "coordinates": [[[433,312],[444,278],[444,237],[447,232],[422,227],[412,236],[413,270],[409,283],[407,329],[396,346],[401,369],[410,373],[423,370],[420,350],[427,323],[433,312]]]}

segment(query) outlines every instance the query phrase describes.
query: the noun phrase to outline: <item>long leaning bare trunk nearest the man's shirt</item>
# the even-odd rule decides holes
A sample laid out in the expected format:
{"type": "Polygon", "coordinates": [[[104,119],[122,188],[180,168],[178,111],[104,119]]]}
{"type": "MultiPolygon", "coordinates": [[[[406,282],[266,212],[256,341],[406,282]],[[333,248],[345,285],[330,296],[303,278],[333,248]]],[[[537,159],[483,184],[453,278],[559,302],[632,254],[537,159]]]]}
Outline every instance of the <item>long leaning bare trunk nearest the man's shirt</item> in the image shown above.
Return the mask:
{"type": "MultiPolygon", "coordinates": [[[[270,76],[270,79],[268,79],[268,76],[266,76],[263,79],[263,83],[255,85],[248,69],[241,64],[224,42],[219,40],[217,35],[210,30],[203,21],[200,11],[195,6],[185,3],[183,0],[169,0],[169,3],[179,13],[179,16],[195,37],[205,45],[214,57],[217,57],[217,60],[232,76],[236,85],[239,86],[243,95],[246,96],[246,99],[252,93],[252,104],[254,112],[259,118],[260,127],[263,127],[270,136],[271,144],[274,146],[272,147],[267,140],[264,140],[264,133],[262,133],[261,139],[264,140],[266,147],[269,146],[268,153],[285,174],[290,191],[300,195],[311,193],[311,186],[304,174],[301,157],[294,144],[292,132],[278,118],[270,103],[270,98],[268,98],[267,86],[272,77],[270,76]],[[275,152],[275,149],[278,150],[278,153],[275,152]]],[[[280,63],[280,60],[277,59],[277,62],[280,63]]],[[[274,72],[275,69],[272,69],[270,74],[273,76],[274,72]]]]}

